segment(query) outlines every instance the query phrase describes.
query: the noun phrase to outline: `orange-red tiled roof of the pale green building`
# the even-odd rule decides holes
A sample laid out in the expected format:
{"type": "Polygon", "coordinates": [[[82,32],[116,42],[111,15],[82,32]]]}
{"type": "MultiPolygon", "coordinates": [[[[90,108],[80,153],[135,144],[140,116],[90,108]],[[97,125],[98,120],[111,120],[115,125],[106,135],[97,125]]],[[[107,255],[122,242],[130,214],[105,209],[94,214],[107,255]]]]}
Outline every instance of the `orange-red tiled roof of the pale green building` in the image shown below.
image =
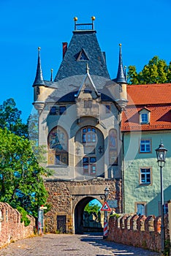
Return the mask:
{"type": "Polygon", "coordinates": [[[171,129],[171,83],[127,86],[128,105],[122,114],[121,130],[171,129]],[[140,124],[140,110],[147,108],[150,124],[140,124]]]}

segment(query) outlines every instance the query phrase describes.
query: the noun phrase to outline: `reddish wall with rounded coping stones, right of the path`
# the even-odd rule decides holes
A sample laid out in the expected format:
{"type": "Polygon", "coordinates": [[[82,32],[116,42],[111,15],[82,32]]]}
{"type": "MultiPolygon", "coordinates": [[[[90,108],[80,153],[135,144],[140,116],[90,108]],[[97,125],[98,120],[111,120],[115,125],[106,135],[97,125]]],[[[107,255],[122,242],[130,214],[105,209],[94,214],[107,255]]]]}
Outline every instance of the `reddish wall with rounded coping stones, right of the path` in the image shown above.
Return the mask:
{"type": "MultiPolygon", "coordinates": [[[[169,239],[168,215],[164,216],[165,239],[169,239]]],[[[108,240],[159,252],[161,249],[161,217],[122,215],[110,217],[108,240]]]]}

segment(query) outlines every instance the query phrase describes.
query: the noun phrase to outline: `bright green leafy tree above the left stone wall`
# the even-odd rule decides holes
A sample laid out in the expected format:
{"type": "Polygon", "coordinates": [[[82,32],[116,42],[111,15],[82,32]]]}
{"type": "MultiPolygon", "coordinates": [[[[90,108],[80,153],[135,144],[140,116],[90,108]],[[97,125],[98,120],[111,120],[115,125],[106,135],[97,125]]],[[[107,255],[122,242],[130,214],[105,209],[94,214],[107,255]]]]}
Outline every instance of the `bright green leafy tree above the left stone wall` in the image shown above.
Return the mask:
{"type": "Polygon", "coordinates": [[[0,129],[0,201],[24,208],[37,217],[47,200],[42,176],[50,171],[39,166],[28,139],[0,129]]]}

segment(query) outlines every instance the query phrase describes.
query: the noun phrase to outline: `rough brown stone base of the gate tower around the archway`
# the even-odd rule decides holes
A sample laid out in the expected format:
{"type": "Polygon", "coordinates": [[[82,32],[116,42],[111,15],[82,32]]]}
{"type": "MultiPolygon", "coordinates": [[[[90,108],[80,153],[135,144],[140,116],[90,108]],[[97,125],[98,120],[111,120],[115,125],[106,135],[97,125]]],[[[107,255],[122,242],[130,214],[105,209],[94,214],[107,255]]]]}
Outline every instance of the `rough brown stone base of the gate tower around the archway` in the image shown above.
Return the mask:
{"type": "Polygon", "coordinates": [[[51,204],[50,211],[45,214],[45,226],[47,232],[50,233],[56,233],[56,218],[58,215],[66,216],[66,233],[75,233],[75,208],[79,207],[78,211],[82,212],[86,204],[93,199],[97,199],[103,204],[106,187],[110,189],[108,199],[117,200],[118,202],[116,212],[122,211],[121,179],[96,178],[88,181],[46,181],[45,187],[49,194],[47,202],[51,204]]]}

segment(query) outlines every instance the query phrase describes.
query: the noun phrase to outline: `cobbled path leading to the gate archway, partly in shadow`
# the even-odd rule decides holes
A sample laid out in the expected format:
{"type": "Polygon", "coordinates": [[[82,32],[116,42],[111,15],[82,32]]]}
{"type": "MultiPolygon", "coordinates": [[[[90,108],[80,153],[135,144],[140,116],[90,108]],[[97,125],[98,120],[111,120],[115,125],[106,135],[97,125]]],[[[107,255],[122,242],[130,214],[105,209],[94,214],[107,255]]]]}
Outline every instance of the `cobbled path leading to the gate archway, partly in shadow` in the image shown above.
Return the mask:
{"type": "Polygon", "coordinates": [[[91,235],[44,235],[26,238],[0,249],[1,256],[143,256],[159,255],[133,246],[105,241],[102,236],[91,235]]]}

